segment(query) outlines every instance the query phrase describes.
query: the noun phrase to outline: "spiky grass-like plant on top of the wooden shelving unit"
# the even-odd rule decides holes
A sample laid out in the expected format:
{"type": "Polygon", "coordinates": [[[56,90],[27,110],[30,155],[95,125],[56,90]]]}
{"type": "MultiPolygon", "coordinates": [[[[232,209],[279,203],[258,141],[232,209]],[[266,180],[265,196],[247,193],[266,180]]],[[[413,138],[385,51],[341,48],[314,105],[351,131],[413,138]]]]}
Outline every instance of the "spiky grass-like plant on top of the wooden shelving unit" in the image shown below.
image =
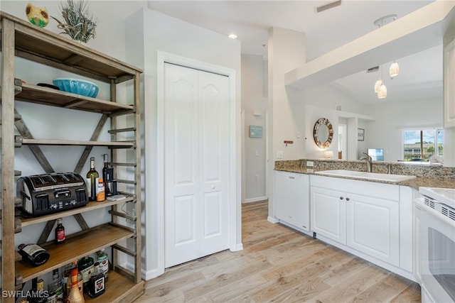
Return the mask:
{"type": "Polygon", "coordinates": [[[73,40],[82,43],[87,43],[91,38],[96,38],[95,28],[98,21],[90,13],[87,1],[67,0],[60,4],[60,11],[65,22],[60,22],[57,18],[51,17],[58,22],[58,28],[64,30],[63,34],[67,34],[73,40]]]}

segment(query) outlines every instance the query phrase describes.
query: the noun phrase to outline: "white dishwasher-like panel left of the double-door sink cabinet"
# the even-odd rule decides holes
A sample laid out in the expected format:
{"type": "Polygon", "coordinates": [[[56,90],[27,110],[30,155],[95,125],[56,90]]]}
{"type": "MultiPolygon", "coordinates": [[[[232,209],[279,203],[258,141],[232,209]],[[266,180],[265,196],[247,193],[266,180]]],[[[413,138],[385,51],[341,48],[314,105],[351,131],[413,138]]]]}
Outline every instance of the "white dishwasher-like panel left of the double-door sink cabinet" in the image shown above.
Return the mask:
{"type": "Polygon", "coordinates": [[[275,216],[304,231],[310,228],[309,175],[275,171],[275,216]]]}

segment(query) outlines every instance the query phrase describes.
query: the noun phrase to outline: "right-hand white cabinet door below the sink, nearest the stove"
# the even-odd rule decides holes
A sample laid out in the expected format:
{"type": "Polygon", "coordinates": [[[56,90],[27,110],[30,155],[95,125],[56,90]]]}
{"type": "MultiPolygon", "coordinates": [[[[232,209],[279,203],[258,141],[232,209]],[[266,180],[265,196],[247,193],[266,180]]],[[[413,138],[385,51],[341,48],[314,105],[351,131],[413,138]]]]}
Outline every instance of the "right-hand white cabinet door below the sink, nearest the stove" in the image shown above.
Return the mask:
{"type": "Polygon", "coordinates": [[[363,253],[398,266],[398,202],[346,194],[346,244],[363,253]]]}

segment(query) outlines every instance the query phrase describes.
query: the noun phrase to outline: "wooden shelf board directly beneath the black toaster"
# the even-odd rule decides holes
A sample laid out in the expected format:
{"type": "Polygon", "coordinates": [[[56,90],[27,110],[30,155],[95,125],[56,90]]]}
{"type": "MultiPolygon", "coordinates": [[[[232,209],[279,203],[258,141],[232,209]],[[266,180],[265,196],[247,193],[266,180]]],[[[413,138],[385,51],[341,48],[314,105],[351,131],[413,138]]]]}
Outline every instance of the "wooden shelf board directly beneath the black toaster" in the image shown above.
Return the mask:
{"type": "Polygon", "coordinates": [[[121,199],[121,200],[117,200],[117,201],[105,200],[103,202],[88,202],[87,205],[78,207],[77,209],[70,209],[68,211],[61,211],[61,212],[58,212],[55,214],[48,214],[45,216],[37,216],[37,217],[33,217],[33,218],[19,217],[19,219],[21,219],[21,226],[25,227],[25,226],[30,226],[30,225],[37,224],[37,223],[55,220],[58,218],[64,218],[65,216],[73,216],[75,214],[82,214],[84,212],[92,211],[95,209],[102,209],[104,207],[112,206],[115,204],[120,204],[123,202],[130,202],[133,200],[134,200],[133,197],[126,197],[125,199],[121,199]]]}

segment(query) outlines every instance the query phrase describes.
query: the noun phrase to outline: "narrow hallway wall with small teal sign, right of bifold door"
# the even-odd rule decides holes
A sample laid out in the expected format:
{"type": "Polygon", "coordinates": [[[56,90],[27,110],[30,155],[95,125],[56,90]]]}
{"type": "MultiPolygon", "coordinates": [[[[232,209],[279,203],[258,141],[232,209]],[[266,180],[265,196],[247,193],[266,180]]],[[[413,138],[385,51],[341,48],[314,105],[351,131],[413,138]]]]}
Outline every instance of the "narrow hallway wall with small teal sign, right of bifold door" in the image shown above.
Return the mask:
{"type": "Polygon", "coordinates": [[[264,59],[259,55],[242,55],[242,110],[245,111],[245,200],[267,199],[266,174],[266,113],[264,97],[264,59]],[[256,115],[255,114],[259,114],[256,115]],[[250,126],[262,126],[262,138],[250,138],[250,126]]]}

